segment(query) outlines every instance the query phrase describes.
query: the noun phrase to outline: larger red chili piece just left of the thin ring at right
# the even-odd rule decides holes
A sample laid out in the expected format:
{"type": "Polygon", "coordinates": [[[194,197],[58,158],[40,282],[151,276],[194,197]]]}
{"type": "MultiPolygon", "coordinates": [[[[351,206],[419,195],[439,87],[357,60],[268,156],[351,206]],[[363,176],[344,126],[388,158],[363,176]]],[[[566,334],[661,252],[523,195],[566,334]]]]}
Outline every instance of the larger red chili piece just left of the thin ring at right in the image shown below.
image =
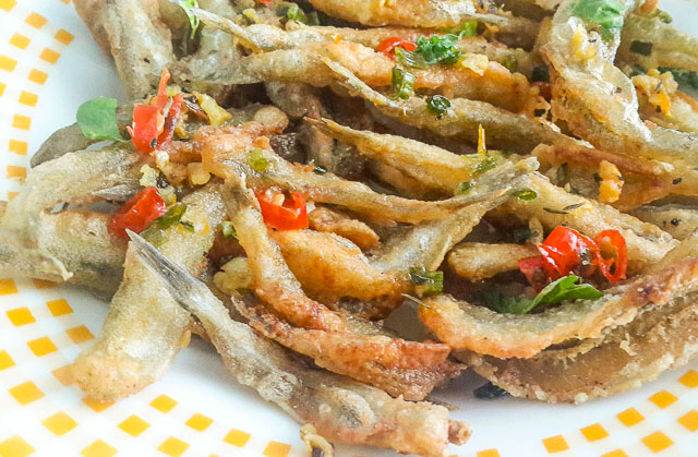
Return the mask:
{"type": "Polygon", "coordinates": [[[586,265],[592,265],[598,256],[591,238],[563,226],[555,227],[545,241],[535,246],[543,256],[543,269],[552,279],[567,276],[583,260],[586,265]]]}

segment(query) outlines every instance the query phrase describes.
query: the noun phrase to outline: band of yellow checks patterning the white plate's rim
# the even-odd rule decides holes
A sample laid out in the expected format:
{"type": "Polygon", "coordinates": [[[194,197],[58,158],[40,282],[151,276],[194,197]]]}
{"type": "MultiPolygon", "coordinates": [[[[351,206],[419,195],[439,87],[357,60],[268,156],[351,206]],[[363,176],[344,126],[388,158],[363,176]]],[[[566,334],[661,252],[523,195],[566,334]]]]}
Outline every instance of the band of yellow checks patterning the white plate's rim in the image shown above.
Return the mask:
{"type": "MultiPolygon", "coordinates": [[[[51,24],[51,11],[72,11],[69,0],[35,1],[36,10],[28,3],[0,0],[2,23],[9,24],[0,44],[0,104],[7,113],[8,132],[7,137],[0,137],[3,200],[16,195],[26,179],[29,144],[35,145],[29,135],[36,127],[36,109],[49,75],[75,43],[73,33],[51,24]]],[[[40,279],[0,278],[0,335],[11,336],[1,341],[14,341],[0,346],[0,387],[4,390],[0,397],[1,457],[24,457],[37,450],[85,457],[117,453],[304,455],[297,437],[276,438],[275,423],[269,423],[265,433],[253,435],[245,426],[244,410],[215,416],[200,410],[185,397],[158,392],[157,384],[119,404],[82,398],[69,364],[94,335],[73,303],[61,297],[62,290],[40,279]],[[23,414],[15,414],[20,410],[23,414]]],[[[678,441],[688,440],[698,455],[698,371],[685,370],[663,386],[615,416],[597,418],[604,420],[564,433],[547,435],[541,430],[539,437],[517,446],[528,449],[528,455],[562,456],[583,449],[589,455],[623,457],[673,455],[674,450],[678,455],[678,441]],[[658,411],[670,419],[653,421],[660,417],[658,411]],[[629,442],[627,432],[634,436],[629,442]]],[[[507,426],[515,426],[517,417],[503,420],[508,421],[507,426]]],[[[504,446],[478,450],[467,445],[458,455],[516,454],[507,454],[504,446]]]]}

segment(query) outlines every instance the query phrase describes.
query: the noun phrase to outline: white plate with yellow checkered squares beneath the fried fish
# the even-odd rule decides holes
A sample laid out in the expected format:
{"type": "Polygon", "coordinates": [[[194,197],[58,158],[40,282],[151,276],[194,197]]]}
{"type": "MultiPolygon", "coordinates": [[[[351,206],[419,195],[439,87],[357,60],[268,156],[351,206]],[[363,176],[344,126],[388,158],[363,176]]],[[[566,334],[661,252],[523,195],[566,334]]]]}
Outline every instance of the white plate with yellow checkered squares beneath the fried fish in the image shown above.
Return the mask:
{"type": "MultiPolygon", "coordinates": [[[[26,171],[27,153],[73,122],[82,101],[123,100],[113,65],[69,1],[0,0],[2,200],[20,190],[12,177],[26,171]]],[[[696,31],[695,3],[673,0],[665,8],[679,28],[696,31]]],[[[200,340],[180,353],[164,380],[137,395],[104,409],[83,402],[75,385],[61,383],[60,368],[91,344],[106,312],[105,303],[79,290],[0,280],[0,456],[304,455],[299,425],[237,385],[200,340]]],[[[457,405],[453,417],[474,430],[453,454],[698,455],[697,362],[581,406],[477,400],[472,389],[482,383],[466,374],[434,394],[457,405]]],[[[349,446],[338,446],[337,454],[393,455],[349,446]]]]}

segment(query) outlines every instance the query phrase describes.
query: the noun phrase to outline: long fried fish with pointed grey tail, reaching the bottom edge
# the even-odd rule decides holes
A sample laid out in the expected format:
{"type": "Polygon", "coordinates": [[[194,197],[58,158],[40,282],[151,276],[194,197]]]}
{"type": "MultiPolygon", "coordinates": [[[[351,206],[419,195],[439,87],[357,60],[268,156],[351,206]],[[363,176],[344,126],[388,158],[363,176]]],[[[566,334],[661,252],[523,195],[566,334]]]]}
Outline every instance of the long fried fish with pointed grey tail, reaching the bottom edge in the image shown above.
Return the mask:
{"type": "Polygon", "coordinates": [[[442,406],[392,398],[375,387],[309,368],[281,346],[232,321],[206,286],[137,236],[132,237],[137,257],[201,322],[238,382],[254,388],[299,423],[311,423],[328,440],[428,457],[444,457],[449,442],[461,444],[470,436],[470,428],[449,420],[442,406]]]}

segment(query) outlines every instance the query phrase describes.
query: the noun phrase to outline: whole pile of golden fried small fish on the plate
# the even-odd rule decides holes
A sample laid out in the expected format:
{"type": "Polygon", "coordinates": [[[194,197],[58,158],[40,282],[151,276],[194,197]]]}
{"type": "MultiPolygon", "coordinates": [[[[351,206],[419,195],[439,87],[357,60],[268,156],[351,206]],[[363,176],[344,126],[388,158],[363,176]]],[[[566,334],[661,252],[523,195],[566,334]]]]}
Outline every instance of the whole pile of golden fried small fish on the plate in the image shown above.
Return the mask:
{"type": "Polygon", "coordinates": [[[426,397],[462,370],[580,402],[698,350],[698,40],[658,1],[75,7],[131,101],[113,141],[79,122],[40,147],[0,269],[110,299],[72,365],[88,397],[157,382],[194,333],[309,448],[441,457],[470,429],[426,397]],[[127,130],[155,96],[182,107],[144,153],[127,130]],[[147,187],[168,213],[116,237],[147,187]],[[265,190],[302,195],[306,228],[270,228],[265,190]],[[520,261],[557,227],[619,232],[627,278],[521,311],[520,261]],[[384,323],[398,308],[423,338],[384,323]]]}

